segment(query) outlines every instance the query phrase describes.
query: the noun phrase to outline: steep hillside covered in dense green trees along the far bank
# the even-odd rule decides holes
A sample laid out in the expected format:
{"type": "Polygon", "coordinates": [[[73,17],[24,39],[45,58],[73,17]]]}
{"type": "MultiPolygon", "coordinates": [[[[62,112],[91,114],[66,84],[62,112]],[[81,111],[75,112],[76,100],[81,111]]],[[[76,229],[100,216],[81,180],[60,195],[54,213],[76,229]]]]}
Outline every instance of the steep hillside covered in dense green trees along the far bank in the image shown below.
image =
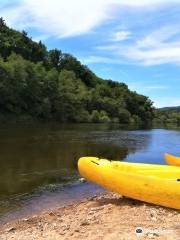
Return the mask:
{"type": "Polygon", "coordinates": [[[0,19],[0,121],[149,124],[148,97],[97,77],[70,54],[47,50],[0,19]]]}

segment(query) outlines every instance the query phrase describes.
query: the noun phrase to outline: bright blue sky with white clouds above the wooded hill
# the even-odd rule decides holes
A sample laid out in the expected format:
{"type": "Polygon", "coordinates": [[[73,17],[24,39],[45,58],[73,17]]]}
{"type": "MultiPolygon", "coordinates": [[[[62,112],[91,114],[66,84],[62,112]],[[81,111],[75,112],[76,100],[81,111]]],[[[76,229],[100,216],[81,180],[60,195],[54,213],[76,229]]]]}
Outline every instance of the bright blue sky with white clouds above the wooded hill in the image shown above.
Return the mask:
{"type": "Polygon", "coordinates": [[[155,107],[180,106],[180,0],[0,0],[0,16],[155,107]]]}

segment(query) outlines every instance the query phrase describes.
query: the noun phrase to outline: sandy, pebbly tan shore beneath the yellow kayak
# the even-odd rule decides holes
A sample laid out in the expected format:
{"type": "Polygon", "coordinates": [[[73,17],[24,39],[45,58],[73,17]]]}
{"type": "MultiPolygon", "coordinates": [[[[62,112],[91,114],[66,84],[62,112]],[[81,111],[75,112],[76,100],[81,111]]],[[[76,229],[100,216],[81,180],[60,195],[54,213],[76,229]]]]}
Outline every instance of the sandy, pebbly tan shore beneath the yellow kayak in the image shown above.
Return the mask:
{"type": "Polygon", "coordinates": [[[180,211],[105,193],[1,226],[0,240],[10,239],[179,240],[180,211]]]}

